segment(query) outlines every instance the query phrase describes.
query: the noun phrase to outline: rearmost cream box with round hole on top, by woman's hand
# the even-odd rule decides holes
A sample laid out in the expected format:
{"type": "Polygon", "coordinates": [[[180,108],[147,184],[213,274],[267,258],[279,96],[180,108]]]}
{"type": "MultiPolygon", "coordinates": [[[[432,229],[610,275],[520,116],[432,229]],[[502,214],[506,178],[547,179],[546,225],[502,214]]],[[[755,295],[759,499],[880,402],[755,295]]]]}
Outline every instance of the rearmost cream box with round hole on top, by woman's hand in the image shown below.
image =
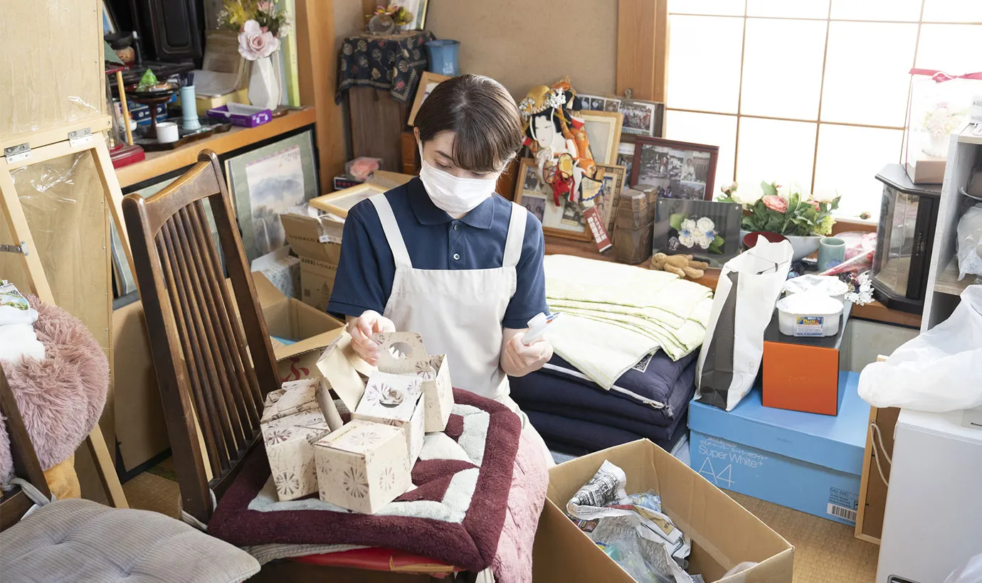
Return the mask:
{"type": "Polygon", "coordinates": [[[412,332],[376,334],[372,340],[379,344],[379,371],[415,375],[422,381],[426,433],[446,429],[454,408],[447,356],[428,355],[422,337],[412,332]]]}

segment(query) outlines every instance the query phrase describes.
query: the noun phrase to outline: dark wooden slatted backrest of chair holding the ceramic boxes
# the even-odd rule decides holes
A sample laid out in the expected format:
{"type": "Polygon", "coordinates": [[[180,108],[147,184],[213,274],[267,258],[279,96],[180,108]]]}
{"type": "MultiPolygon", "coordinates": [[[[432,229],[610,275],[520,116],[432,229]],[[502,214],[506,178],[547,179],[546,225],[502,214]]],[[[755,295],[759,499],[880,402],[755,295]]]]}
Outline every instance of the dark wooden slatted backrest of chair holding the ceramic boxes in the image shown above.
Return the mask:
{"type": "Polygon", "coordinates": [[[263,397],[280,383],[218,156],[204,150],[197,159],[149,198],[126,196],[123,215],[182,506],[207,522],[214,509],[209,489],[217,498],[224,494],[257,441],[263,397]],[[211,205],[232,292],[204,203],[211,205]]]}

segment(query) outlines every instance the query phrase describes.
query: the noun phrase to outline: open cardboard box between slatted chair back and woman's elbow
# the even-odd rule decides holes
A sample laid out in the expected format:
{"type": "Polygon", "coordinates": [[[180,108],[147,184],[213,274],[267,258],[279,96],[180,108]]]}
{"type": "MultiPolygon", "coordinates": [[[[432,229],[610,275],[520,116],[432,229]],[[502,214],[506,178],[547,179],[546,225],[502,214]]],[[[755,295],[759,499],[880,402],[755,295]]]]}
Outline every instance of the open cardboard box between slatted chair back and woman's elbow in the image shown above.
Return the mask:
{"type": "MultiPolygon", "coordinates": [[[[298,299],[287,297],[261,273],[253,273],[252,281],[269,335],[296,341],[294,344],[280,344],[274,348],[277,361],[298,356],[314,348],[323,348],[344,332],[344,322],[298,299]]],[[[231,287],[231,283],[229,286],[231,287]]],[[[289,371],[289,366],[286,369],[289,371]]],[[[284,371],[283,365],[280,370],[284,371]]],[[[281,374],[280,378],[284,381],[297,381],[301,377],[287,378],[281,374]]]]}

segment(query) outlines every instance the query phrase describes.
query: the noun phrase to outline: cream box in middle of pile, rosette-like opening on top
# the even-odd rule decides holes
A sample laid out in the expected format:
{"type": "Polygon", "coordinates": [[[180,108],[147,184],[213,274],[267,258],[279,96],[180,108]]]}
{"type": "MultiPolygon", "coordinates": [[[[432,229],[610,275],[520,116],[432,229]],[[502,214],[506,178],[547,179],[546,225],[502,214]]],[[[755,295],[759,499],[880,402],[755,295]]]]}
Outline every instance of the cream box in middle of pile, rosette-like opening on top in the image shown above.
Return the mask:
{"type": "Polygon", "coordinates": [[[377,372],[368,377],[354,419],[402,428],[406,433],[409,465],[419,458],[425,434],[422,381],[418,377],[377,372]]]}

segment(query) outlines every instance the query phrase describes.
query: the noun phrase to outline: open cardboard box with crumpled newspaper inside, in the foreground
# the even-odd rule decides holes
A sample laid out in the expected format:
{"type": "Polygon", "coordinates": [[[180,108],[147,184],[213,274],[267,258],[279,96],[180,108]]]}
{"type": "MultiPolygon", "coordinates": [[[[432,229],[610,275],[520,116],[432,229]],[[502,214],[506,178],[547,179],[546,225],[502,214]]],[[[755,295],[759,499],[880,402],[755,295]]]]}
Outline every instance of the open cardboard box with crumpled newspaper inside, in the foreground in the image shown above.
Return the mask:
{"type": "Polygon", "coordinates": [[[654,490],[662,497],[666,513],[692,539],[689,573],[701,574],[707,582],[712,582],[720,580],[736,564],[754,561],[758,563],[756,566],[727,581],[791,582],[794,550],[788,541],[697,476],[671,453],[647,440],[597,451],[549,470],[549,501],[542,513],[540,526],[543,523],[548,525],[555,538],[545,540],[536,536],[533,562],[533,579],[536,582],[633,581],[585,534],[578,529],[572,532],[557,524],[561,517],[573,524],[563,516],[560,508],[566,507],[573,494],[593,477],[605,459],[627,473],[628,494],[654,490]],[[555,560],[556,555],[568,557],[573,566],[558,567],[565,569],[564,576],[544,572],[540,578],[540,558],[547,564],[556,564],[560,562],[555,560]]]}

